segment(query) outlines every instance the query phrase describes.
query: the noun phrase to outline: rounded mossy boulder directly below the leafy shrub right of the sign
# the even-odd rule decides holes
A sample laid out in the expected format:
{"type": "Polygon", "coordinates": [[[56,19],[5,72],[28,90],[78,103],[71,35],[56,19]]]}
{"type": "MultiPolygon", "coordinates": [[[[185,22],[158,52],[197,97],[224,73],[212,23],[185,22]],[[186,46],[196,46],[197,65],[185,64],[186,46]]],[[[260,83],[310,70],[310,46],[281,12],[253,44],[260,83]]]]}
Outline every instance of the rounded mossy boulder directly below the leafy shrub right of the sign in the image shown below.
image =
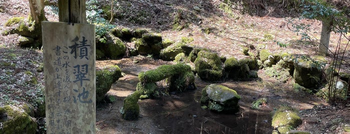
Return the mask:
{"type": "Polygon", "coordinates": [[[110,58],[118,58],[125,55],[126,46],[123,41],[114,36],[113,34],[106,34],[107,43],[102,44],[103,46],[99,46],[103,48],[105,51],[105,55],[110,58]]]}

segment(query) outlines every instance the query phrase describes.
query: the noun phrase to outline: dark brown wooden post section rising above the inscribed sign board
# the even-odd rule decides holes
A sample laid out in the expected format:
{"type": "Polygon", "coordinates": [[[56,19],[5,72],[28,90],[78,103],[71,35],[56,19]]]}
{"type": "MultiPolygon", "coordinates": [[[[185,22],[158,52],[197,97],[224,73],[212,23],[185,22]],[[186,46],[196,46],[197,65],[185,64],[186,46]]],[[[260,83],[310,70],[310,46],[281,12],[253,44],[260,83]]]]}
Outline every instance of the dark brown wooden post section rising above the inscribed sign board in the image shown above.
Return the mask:
{"type": "Polygon", "coordinates": [[[59,21],[87,23],[86,0],[59,0],[59,21]]]}

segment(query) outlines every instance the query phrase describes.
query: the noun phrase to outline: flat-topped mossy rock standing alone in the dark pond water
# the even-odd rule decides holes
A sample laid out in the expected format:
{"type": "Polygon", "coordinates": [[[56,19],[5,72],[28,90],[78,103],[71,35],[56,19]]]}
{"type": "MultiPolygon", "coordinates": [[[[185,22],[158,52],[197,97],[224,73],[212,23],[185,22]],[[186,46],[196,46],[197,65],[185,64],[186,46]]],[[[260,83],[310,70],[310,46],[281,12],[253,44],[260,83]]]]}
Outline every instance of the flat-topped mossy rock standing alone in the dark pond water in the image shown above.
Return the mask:
{"type": "Polygon", "coordinates": [[[202,90],[201,105],[216,112],[234,113],[239,110],[240,95],[224,85],[210,84],[202,90]]]}

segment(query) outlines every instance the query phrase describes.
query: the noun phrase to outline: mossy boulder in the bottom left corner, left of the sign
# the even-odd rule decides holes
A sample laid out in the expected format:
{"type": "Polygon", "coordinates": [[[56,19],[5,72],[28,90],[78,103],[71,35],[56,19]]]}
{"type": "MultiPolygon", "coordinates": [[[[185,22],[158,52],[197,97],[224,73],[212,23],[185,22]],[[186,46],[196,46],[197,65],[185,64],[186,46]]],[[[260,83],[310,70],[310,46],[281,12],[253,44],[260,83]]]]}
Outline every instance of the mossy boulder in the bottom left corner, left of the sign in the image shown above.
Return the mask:
{"type": "Polygon", "coordinates": [[[5,105],[0,107],[0,133],[36,133],[37,122],[29,115],[26,107],[5,105]]]}

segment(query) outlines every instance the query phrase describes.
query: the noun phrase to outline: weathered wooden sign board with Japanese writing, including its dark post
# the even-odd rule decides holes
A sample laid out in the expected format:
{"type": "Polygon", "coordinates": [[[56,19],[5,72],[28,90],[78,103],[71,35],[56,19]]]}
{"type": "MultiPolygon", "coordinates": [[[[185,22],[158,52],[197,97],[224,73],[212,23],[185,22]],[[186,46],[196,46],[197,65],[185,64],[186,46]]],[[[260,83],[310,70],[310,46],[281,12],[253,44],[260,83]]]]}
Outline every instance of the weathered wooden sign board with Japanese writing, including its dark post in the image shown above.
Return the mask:
{"type": "Polygon", "coordinates": [[[85,0],[59,3],[63,22],[42,22],[47,133],[95,133],[95,25],[85,0]]]}

